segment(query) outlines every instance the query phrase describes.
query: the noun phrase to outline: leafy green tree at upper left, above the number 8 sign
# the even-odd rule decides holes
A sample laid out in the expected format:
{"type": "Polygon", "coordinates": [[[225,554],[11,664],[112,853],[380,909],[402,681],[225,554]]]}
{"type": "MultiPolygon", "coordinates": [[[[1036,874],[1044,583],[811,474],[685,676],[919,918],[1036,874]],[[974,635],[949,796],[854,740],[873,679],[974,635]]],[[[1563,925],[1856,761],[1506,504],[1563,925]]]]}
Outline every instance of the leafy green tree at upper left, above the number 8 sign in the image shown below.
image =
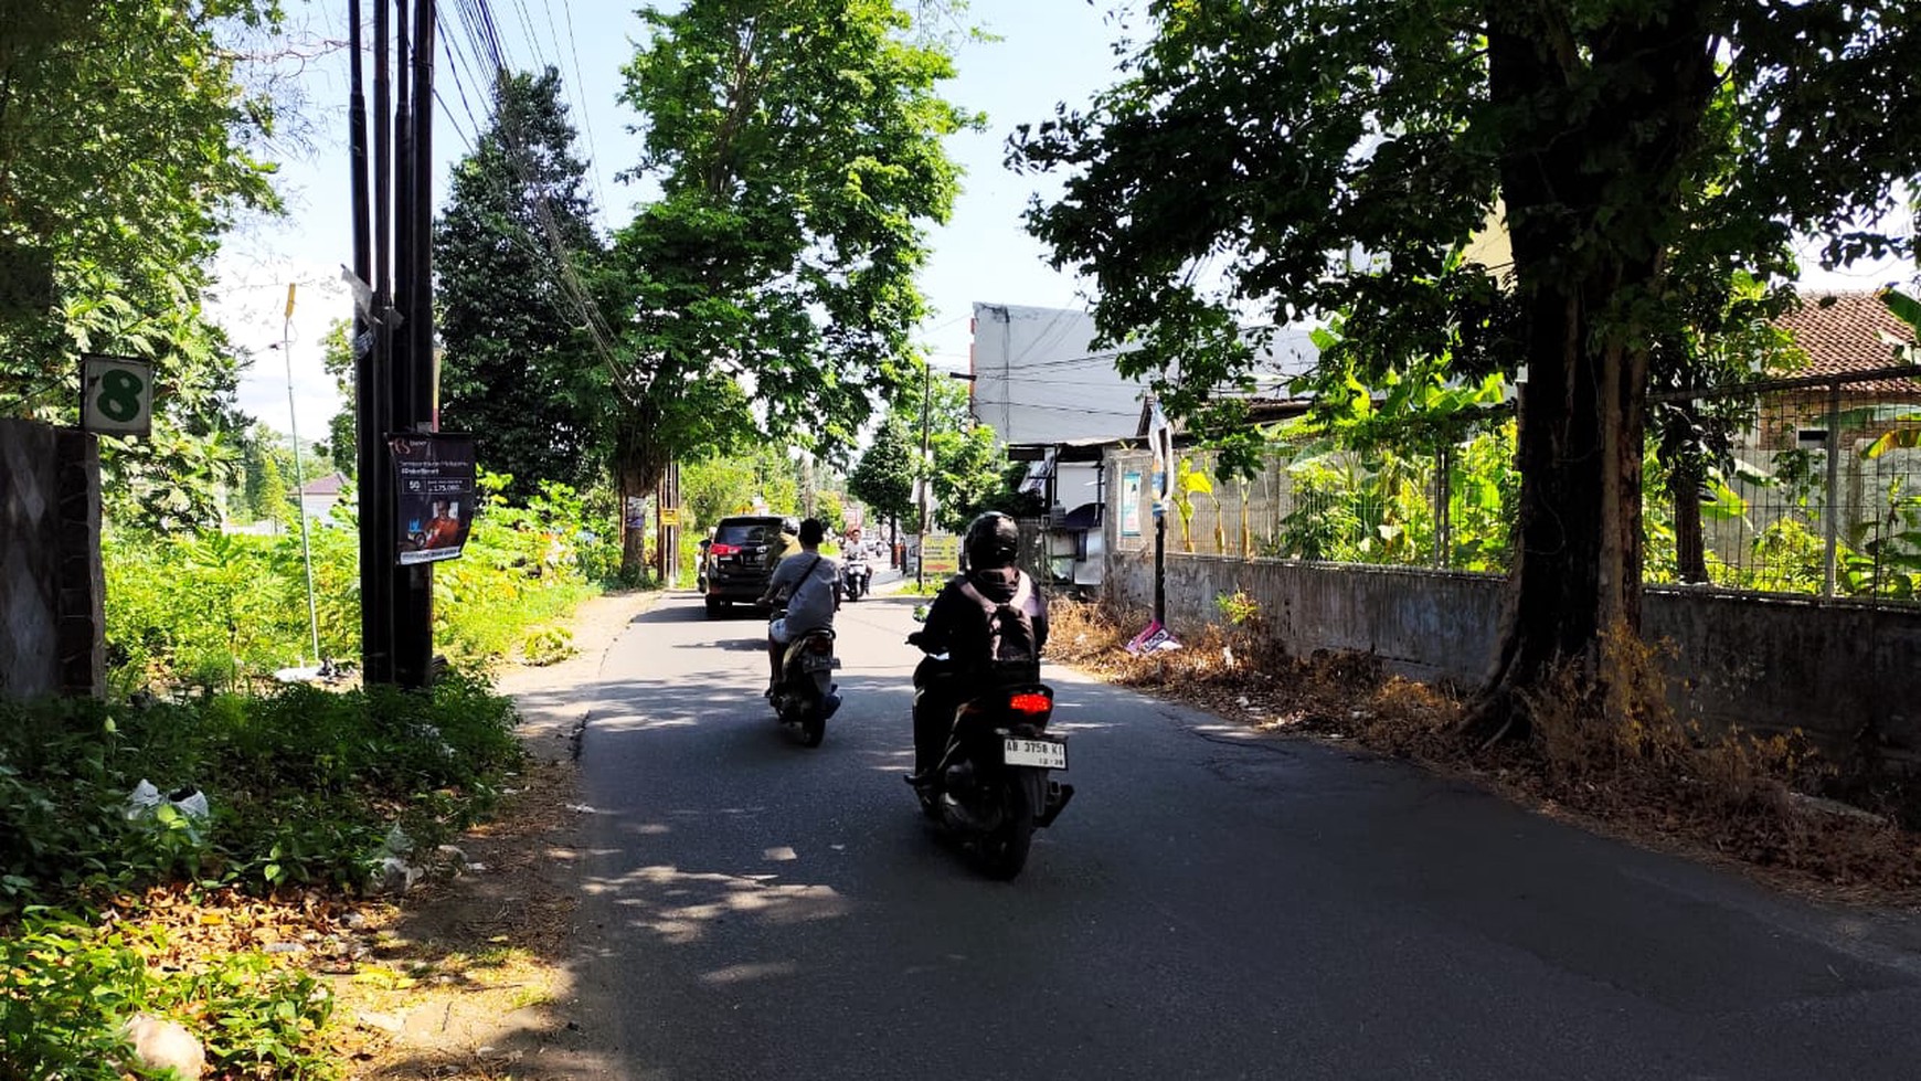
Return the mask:
{"type": "Polygon", "coordinates": [[[0,413],[71,422],[79,353],[154,363],[150,438],[109,440],[115,518],[219,518],[236,359],[202,311],[232,211],[271,207],[227,27],[265,0],[10,0],[0,10],[0,413]]]}

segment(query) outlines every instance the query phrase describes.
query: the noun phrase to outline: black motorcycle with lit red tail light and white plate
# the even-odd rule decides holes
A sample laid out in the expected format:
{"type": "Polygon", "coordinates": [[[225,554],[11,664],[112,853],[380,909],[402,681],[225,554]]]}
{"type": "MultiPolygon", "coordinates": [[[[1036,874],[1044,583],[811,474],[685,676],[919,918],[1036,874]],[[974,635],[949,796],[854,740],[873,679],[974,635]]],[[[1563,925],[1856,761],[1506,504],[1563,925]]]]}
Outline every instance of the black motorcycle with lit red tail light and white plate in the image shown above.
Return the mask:
{"type": "MultiPolygon", "coordinates": [[[[916,687],[916,709],[920,697],[916,687]]],[[[1074,785],[1049,778],[1068,768],[1066,735],[1047,732],[1053,712],[1047,684],[1005,685],[962,701],[939,764],[914,783],[920,812],[972,849],[991,877],[1018,876],[1033,831],[1053,826],[1074,799],[1074,785]]]]}

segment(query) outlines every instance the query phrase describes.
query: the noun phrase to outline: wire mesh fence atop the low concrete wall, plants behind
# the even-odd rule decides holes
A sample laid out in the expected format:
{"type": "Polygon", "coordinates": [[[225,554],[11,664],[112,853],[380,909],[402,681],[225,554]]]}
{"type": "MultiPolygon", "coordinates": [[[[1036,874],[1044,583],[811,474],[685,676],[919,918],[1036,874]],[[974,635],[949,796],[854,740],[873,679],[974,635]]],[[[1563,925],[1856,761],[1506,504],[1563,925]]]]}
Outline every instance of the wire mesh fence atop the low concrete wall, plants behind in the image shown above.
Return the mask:
{"type": "MultiPolygon", "coordinates": [[[[1648,428],[1650,584],[1921,597],[1921,378],[1911,369],[1664,394],[1648,428]]],[[[1183,461],[1168,551],[1508,568],[1520,476],[1502,411],[1439,445],[1283,436],[1251,478],[1214,478],[1208,451],[1183,461]]],[[[1114,468],[1147,478],[1153,463],[1126,451],[1114,468]]],[[[1151,484],[1141,490],[1145,505],[1151,484]]]]}

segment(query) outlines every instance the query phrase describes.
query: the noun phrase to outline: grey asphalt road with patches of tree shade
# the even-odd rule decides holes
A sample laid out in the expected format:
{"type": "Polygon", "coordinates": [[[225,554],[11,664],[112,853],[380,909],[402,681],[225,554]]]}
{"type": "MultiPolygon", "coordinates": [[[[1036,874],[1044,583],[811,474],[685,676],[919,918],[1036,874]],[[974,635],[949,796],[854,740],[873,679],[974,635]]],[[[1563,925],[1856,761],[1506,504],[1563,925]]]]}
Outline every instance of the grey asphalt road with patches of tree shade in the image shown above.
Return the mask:
{"type": "Polygon", "coordinates": [[[1051,670],[1072,806],[1012,883],[916,814],[907,599],[845,709],[678,595],[580,687],[584,987],[628,1079],[1913,1079],[1921,922],[1051,670]]]}

